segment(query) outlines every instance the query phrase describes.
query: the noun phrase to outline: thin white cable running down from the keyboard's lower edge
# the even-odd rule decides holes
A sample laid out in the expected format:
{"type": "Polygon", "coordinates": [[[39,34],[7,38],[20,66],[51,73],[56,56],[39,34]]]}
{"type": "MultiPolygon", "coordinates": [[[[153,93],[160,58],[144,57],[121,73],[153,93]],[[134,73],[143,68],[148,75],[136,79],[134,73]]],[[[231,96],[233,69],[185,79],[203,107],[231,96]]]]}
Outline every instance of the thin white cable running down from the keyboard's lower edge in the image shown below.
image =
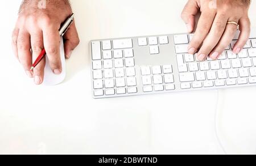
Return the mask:
{"type": "Polygon", "coordinates": [[[217,102],[216,102],[216,108],[215,108],[215,114],[214,114],[214,132],[218,141],[218,144],[220,145],[222,151],[224,152],[225,155],[228,155],[228,153],[225,150],[225,147],[223,146],[221,139],[218,134],[218,117],[219,117],[219,112],[223,110],[223,103],[224,103],[224,95],[223,95],[223,90],[217,90],[217,102]]]}

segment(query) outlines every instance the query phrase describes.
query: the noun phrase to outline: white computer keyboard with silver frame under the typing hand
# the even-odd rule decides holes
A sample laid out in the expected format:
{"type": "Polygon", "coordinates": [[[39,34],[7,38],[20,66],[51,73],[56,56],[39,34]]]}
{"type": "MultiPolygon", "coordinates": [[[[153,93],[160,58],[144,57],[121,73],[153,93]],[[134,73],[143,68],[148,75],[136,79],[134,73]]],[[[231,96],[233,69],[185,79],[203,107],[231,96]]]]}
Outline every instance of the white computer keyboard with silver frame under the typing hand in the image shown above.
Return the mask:
{"type": "Polygon", "coordinates": [[[95,99],[256,85],[256,29],[239,54],[232,48],[217,60],[188,54],[192,34],[94,40],[92,95],[95,99]]]}

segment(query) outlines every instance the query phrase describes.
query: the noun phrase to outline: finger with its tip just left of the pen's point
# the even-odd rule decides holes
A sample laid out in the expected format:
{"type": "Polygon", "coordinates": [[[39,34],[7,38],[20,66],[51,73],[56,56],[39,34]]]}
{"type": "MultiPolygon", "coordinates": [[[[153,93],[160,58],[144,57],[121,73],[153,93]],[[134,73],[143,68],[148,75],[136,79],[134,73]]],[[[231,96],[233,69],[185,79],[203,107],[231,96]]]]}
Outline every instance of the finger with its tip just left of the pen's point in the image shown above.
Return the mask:
{"type": "Polygon", "coordinates": [[[17,39],[18,57],[27,75],[32,78],[30,67],[32,66],[32,55],[30,45],[30,34],[27,31],[20,30],[17,39]]]}

